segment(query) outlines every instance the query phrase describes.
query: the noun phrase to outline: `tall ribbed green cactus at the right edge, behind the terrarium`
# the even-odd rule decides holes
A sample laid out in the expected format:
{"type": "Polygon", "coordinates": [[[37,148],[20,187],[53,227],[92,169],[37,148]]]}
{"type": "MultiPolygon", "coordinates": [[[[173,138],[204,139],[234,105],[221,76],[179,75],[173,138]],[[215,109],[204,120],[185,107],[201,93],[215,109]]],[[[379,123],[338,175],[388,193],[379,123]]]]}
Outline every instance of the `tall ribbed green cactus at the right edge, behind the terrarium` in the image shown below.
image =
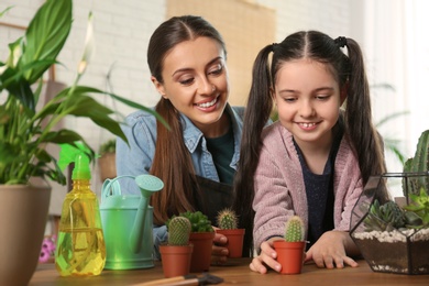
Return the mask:
{"type": "MultiPolygon", "coordinates": [[[[429,170],[429,130],[421,133],[417,143],[416,154],[404,164],[404,173],[421,173],[429,170]]],[[[403,183],[404,195],[419,195],[420,188],[429,189],[429,174],[427,176],[408,177],[408,184],[403,183]],[[408,188],[408,194],[407,194],[408,188]]]]}

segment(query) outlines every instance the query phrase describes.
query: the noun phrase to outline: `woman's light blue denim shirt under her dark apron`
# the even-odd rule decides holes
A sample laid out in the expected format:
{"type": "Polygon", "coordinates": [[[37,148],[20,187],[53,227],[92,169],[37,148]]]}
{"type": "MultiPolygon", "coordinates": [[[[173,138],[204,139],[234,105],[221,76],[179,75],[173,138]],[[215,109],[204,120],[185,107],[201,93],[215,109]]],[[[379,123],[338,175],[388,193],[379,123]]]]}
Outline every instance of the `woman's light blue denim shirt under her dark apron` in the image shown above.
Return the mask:
{"type": "MultiPolygon", "coordinates": [[[[226,112],[230,116],[234,132],[234,154],[230,167],[237,169],[240,157],[240,142],[243,130],[243,107],[231,107],[227,105],[226,112]]],[[[180,114],[184,127],[184,141],[189,150],[194,168],[197,175],[219,182],[213,160],[207,150],[206,139],[202,132],[184,114],[180,114]]],[[[155,154],[156,144],[156,118],[143,110],[135,111],[127,117],[127,124],[122,130],[129,141],[129,145],[121,140],[117,140],[117,173],[118,176],[138,176],[148,174],[152,160],[155,154]]],[[[132,179],[121,179],[122,195],[141,194],[132,179]]],[[[167,240],[165,226],[153,228],[154,258],[160,258],[158,245],[167,240]]]]}

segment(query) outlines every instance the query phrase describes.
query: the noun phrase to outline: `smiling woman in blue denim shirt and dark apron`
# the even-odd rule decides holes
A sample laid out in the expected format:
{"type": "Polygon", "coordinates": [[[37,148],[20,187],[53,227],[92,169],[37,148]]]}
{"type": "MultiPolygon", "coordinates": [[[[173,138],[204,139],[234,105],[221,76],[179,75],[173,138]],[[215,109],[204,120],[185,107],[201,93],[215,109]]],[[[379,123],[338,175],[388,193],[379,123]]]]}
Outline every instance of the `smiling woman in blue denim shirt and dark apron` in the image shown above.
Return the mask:
{"type": "MultiPolygon", "coordinates": [[[[200,210],[215,222],[232,202],[232,178],[239,160],[243,108],[228,103],[227,51],[219,32],[200,16],[174,16],[153,33],[147,48],[151,80],[161,95],[155,110],[169,124],[138,111],[123,131],[130,146],[117,143],[120,175],[152,174],[164,189],[152,195],[154,246],[167,240],[165,221],[200,210]]],[[[140,194],[133,182],[127,193],[140,194]]],[[[224,262],[227,238],[215,237],[212,260],[224,262]]]]}

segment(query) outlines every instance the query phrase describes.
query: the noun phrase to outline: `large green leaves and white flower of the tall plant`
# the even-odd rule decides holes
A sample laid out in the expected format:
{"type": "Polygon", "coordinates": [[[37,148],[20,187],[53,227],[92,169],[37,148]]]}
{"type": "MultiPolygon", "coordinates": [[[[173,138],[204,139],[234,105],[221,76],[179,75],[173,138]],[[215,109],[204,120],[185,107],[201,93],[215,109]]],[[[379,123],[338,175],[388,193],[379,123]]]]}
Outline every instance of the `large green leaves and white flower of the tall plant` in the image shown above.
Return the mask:
{"type": "MultiPolygon", "coordinates": [[[[143,109],[166,124],[146,107],[114,94],[78,85],[92,51],[92,14],[89,15],[85,52],[74,84],[36,108],[44,86],[43,76],[57,64],[57,56],[70,33],[72,12],[72,0],[46,0],[31,20],[25,34],[9,44],[7,61],[0,62],[0,184],[25,185],[31,177],[66,184],[56,154],[47,152],[46,145],[82,142],[88,148],[90,146],[76,131],[55,129],[65,118],[90,119],[128,142],[120,128],[123,122],[111,118],[117,112],[99,103],[95,95],[108,95],[129,107],[143,109]]],[[[90,151],[88,155],[94,160],[95,152],[90,151]]]]}

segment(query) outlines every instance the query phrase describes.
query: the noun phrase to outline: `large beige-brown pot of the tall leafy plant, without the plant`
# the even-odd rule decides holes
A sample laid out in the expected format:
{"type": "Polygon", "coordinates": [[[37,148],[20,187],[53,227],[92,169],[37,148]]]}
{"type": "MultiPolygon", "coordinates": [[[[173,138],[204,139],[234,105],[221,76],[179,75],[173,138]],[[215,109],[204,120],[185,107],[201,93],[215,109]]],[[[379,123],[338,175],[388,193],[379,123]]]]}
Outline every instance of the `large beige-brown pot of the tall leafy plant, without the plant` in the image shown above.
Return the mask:
{"type": "Polygon", "coordinates": [[[28,285],[37,266],[50,186],[0,185],[0,285],[28,285]]]}

